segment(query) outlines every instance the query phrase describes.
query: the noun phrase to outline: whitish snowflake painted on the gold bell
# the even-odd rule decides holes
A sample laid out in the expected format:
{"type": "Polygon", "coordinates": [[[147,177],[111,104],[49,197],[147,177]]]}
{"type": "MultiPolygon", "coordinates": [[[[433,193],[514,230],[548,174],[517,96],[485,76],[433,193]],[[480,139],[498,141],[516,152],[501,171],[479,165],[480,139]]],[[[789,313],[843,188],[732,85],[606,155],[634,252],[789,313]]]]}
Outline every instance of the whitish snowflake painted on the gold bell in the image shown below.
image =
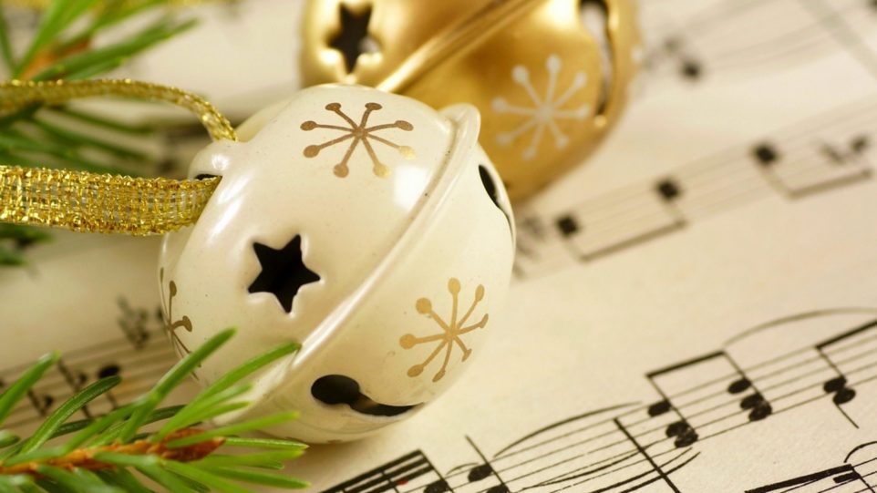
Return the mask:
{"type": "Polygon", "coordinates": [[[562,65],[561,57],[554,54],[548,56],[545,60],[545,69],[548,71],[548,86],[545,87],[544,98],[536,93],[536,88],[533,87],[530,80],[530,70],[527,67],[517,65],[511,69],[511,79],[527,92],[531,106],[512,105],[505,98],[500,97],[493,99],[492,107],[494,112],[527,117],[517,128],[497,134],[496,140],[500,146],[510,146],[512,142],[521,139],[521,137],[532,130],[530,145],[527,149],[524,149],[521,157],[523,159],[533,159],[536,157],[539,144],[542,142],[545,128],[551,131],[554,138],[554,146],[557,149],[563,149],[570,143],[570,139],[563,135],[560,128],[557,127],[557,120],[583,120],[590,115],[591,108],[587,104],[579,108],[563,108],[573,96],[585,87],[587,76],[581,70],[575,73],[573,84],[555,98],[557,76],[561,72],[562,65]]]}

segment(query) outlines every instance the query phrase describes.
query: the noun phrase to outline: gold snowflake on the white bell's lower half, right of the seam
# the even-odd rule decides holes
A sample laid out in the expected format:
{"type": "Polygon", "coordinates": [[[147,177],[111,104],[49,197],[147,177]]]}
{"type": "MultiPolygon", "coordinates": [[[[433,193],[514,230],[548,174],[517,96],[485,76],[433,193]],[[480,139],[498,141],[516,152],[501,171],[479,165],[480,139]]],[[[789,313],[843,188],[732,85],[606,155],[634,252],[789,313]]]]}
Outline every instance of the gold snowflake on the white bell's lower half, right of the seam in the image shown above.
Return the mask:
{"type": "Polygon", "coordinates": [[[445,359],[441,364],[441,368],[438,369],[438,373],[433,375],[432,381],[438,382],[441,380],[443,376],[445,376],[445,370],[448,368],[448,363],[450,361],[450,355],[454,352],[454,346],[459,345],[460,351],[462,351],[462,358],[460,361],[466,361],[469,358],[469,355],[472,354],[472,350],[466,347],[466,344],[460,338],[463,334],[468,334],[476,329],[484,328],[487,325],[488,314],[485,313],[481,320],[477,324],[466,325],[466,322],[469,321],[469,317],[475,312],[475,308],[484,299],[484,286],[478,285],[475,289],[475,299],[472,301],[472,304],[469,305],[469,310],[462,317],[458,318],[458,308],[459,308],[459,280],[456,278],[450,278],[448,281],[448,291],[451,296],[451,300],[453,302],[453,307],[450,313],[450,321],[446,322],[438,313],[436,313],[432,309],[432,302],[430,302],[427,298],[420,298],[415,306],[418,309],[418,313],[427,315],[429,318],[434,320],[438,327],[441,328],[439,334],[427,335],[425,337],[417,337],[414,334],[405,334],[399,339],[399,345],[401,345],[405,349],[411,349],[412,347],[418,344],[428,344],[432,342],[439,341],[436,344],[436,348],[432,351],[432,354],[429,354],[427,359],[419,364],[414,365],[408,368],[408,376],[414,377],[423,373],[423,370],[429,365],[432,360],[438,356],[438,353],[441,352],[442,349],[445,349],[445,359]]]}

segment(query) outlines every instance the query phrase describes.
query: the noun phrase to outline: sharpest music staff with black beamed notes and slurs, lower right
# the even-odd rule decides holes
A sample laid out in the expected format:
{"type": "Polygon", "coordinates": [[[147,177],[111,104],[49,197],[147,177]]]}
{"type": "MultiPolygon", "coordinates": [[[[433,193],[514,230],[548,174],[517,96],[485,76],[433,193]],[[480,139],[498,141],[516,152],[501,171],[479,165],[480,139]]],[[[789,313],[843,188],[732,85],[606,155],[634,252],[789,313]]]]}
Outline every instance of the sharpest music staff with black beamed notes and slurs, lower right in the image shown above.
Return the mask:
{"type": "MultiPolygon", "coordinates": [[[[829,396],[821,386],[831,367],[820,351],[844,369],[850,387],[877,381],[877,334],[869,333],[877,327],[875,315],[877,309],[824,310],[758,325],[718,351],[647,373],[646,380],[659,396],[651,404],[611,406],[561,419],[490,457],[467,437],[476,459],[451,468],[444,478],[436,473],[432,481],[444,481],[437,485],[455,493],[620,493],[655,484],[685,491],[674,475],[709,453],[697,449],[706,447],[711,438],[743,426],[769,426],[775,416],[829,396]],[[867,322],[847,328],[865,316],[867,322]],[[776,348],[773,352],[751,350],[766,341],[776,348]],[[758,357],[753,359],[754,355],[758,357]]],[[[420,464],[426,460],[419,451],[405,457],[327,492],[350,493],[355,484],[392,485],[398,464],[413,457],[421,457],[416,459],[420,464]],[[363,483],[366,478],[374,483],[363,483]]],[[[877,467],[877,459],[873,462],[877,467]]],[[[421,474],[434,470],[430,464],[421,474]]],[[[851,478],[844,472],[849,470],[824,473],[824,478],[851,478]]],[[[401,493],[409,491],[414,489],[401,493]]]]}

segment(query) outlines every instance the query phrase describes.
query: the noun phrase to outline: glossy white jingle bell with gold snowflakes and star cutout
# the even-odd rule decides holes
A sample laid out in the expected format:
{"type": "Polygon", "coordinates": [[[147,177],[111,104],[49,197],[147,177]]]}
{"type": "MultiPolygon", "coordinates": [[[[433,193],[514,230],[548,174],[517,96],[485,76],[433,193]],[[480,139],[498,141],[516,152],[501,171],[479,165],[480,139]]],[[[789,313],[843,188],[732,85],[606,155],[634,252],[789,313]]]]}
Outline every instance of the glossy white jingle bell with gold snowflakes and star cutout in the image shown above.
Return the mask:
{"type": "Polygon", "coordinates": [[[197,378],[302,343],[257,378],[246,416],[299,410],[273,433],[312,442],[365,437],[444,392],[498,330],[511,276],[514,221],[479,125],[469,106],[330,85],[202,150],[191,177],[222,181],[166,237],[165,314],[181,353],[239,330],[197,378]]]}

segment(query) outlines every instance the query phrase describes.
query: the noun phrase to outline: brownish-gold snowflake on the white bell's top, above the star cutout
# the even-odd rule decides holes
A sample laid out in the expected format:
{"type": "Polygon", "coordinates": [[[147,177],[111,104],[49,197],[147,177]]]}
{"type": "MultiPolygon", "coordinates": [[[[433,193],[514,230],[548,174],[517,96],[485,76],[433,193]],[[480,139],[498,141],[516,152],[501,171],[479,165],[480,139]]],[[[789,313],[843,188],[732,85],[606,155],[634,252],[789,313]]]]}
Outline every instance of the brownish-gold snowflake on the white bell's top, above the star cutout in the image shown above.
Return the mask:
{"type": "Polygon", "coordinates": [[[389,128],[398,128],[400,130],[410,132],[414,129],[414,126],[408,123],[408,121],[399,119],[393,123],[384,123],[372,127],[367,127],[368,118],[371,116],[372,112],[383,108],[381,105],[377,103],[366,103],[366,110],[363,111],[362,118],[359,119],[359,123],[356,123],[353,118],[348,117],[346,113],[341,110],[341,103],[329,103],[325,105],[325,108],[344,119],[349,127],[317,123],[314,120],[305,121],[302,124],[302,129],[304,131],[311,131],[315,128],[329,128],[332,130],[345,132],[345,134],[341,137],[327,140],[319,145],[307,146],[306,148],[304,148],[304,157],[315,158],[321,150],[330,148],[332,146],[335,146],[335,144],[340,144],[342,142],[345,142],[346,140],[350,140],[350,144],[347,147],[344,158],[341,159],[340,163],[335,165],[335,176],[340,178],[344,178],[347,176],[347,173],[350,171],[350,169],[347,167],[347,162],[350,160],[350,157],[353,156],[354,150],[356,150],[356,147],[359,146],[360,143],[362,143],[363,147],[366,148],[368,157],[372,161],[372,171],[375,173],[376,176],[381,178],[386,178],[387,176],[389,176],[390,169],[387,168],[387,165],[382,163],[380,159],[377,158],[377,153],[375,152],[375,148],[372,146],[372,141],[380,142],[387,147],[397,149],[399,154],[401,154],[402,157],[405,159],[414,159],[414,149],[411,149],[408,146],[401,146],[396,142],[392,142],[390,140],[375,135],[377,132],[381,130],[387,130],[389,128]]]}

